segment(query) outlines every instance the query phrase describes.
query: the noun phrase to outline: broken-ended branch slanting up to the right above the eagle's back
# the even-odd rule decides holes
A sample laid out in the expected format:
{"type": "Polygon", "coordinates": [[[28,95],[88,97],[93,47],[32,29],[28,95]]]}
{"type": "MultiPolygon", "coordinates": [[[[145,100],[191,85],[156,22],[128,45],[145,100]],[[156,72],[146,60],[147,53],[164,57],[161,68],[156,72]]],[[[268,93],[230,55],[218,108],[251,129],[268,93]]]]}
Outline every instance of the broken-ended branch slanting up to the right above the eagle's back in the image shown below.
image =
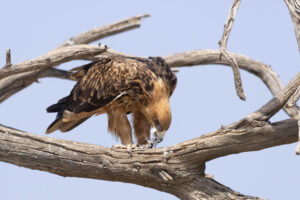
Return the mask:
{"type": "Polygon", "coordinates": [[[76,44],[89,44],[101,38],[122,33],[141,26],[141,19],[149,17],[149,14],[138,15],[113,24],[97,27],[87,32],[76,35],[65,41],[58,48],[76,44]]]}

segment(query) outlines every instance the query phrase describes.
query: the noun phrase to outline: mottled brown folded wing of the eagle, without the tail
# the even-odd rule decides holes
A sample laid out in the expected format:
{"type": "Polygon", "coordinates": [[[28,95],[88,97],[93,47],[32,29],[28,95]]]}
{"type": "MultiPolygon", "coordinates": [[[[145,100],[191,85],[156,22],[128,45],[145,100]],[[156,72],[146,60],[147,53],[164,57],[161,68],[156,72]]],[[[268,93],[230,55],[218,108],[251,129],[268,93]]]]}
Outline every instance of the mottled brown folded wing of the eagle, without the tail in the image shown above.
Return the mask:
{"type": "Polygon", "coordinates": [[[153,88],[152,80],[155,79],[146,63],[123,57],[79,67],[76,74],[82,77],[70,94],[73,102],[69,102],[68,108],[75,113],[99,109],[124,92],[132,98],[143,99],[140,96],[153,88]],[[129,90],[131,92],[127,93],[129,90]]]}

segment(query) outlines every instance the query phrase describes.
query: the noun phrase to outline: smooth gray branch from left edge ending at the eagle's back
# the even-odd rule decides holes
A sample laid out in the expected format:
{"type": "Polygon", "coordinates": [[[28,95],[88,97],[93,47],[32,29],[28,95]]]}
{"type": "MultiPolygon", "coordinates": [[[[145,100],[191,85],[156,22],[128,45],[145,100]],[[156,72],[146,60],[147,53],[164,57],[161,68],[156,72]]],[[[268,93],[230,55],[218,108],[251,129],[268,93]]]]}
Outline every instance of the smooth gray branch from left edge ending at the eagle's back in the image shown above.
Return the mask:
{"type": "Polygon", "coordinates": [[[88,56],[101,54],[106,51],[103,46],[76,45],[57,49],[41,57],[12,65],[10,68],[0,70],[0,80],[10,75],[35,70],[44,70],[64,62],[76,59],[84,59],[88,56]]]}

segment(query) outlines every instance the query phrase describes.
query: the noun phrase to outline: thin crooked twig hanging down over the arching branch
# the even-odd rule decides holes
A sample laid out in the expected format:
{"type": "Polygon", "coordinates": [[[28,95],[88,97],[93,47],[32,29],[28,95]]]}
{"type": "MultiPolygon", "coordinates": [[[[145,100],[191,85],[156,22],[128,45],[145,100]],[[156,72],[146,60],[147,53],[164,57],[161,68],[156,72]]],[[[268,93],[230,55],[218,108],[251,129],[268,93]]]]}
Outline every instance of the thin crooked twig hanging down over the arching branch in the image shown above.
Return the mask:
{"type": "Polygon", "coordinates": [[[236,89],[237,95],[240,97],[240,99],[245,100],[246,96],[244,94],[244,90],[243,90],[243,86],[242,86],[242,79],[241,79],[238,64],[237,64],[236,60],[234,59],[234,57],[227,51],[227,41],[229,38],[229,33],[232,29],[234,18],[235,18],[235,15],[236,15],[236,12],[237,12],[237,9],[238,9],[240,3],[241,3],[241,0],[233,0],[232,6],[230,9],[228,18],[227,18],[227,22],[224,25],[224,32],[222,35],[222,39],[219,41],[219,45],[220,45],[220,52],[221,52],[220,59],[222,56],[224,56],[225,59],[232,66],[233,75],[234,75],[234,84],[235,84],[235,89],[236,89]]]}

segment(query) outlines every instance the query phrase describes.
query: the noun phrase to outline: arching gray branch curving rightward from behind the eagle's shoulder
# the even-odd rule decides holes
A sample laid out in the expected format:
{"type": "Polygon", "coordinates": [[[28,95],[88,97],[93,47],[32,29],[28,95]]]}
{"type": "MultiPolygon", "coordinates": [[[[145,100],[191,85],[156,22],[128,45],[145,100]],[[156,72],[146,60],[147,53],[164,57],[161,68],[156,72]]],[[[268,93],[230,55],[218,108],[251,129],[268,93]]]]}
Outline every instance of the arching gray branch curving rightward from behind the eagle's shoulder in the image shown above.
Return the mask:
{"type": "MultiPolygon", "coordinates": [[[[220,51],[218,50],[194,50],[165,56],[164,58],[171,67],[204,64],[230,65],[228,60],[220,59],[219,55],[220,51]]],[[[270,66],[240,54],[231,53],[231,55],[235,58],[241,69],[244,69],[260,78],[274,96],[279,95],[283,89],[283,84],[270,66]]],[[[298,107],[296,105],[291,108],[284,107],[284,110],[289,116],[295,119],[298,118],[298,107]]]]}

